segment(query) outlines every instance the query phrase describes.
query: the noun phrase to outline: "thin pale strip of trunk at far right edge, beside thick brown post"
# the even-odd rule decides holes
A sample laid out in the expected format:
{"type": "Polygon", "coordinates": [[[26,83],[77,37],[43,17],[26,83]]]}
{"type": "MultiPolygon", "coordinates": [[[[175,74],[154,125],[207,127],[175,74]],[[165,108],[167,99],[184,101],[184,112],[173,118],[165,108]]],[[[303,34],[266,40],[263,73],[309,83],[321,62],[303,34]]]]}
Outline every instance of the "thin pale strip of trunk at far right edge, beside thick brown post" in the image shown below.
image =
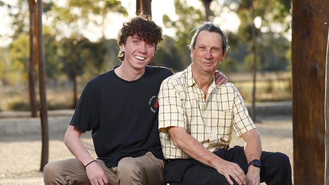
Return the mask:
{"type": "Polygon", "coordinates": [[[324,107],[324,117],[325,117],[325,175],[324,181],[326,185],[329,185],[329,29],[328,29],[328,41],[326,46],[326,68],[325,68],[325,107],[324,107]]]}

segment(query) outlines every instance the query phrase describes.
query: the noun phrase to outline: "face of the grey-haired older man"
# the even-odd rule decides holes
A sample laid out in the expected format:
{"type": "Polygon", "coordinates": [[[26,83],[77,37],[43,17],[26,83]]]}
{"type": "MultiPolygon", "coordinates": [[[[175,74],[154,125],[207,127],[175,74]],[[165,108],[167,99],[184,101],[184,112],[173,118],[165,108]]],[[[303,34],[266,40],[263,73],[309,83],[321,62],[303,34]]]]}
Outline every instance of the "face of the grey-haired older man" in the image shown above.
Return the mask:
{"type": "Polygon", "coordinates": [[[217,32],[201,31],[191,49],[192,70],[199,74],[213,74],[219,63],[225,59],[222,37],[217,32]]]}

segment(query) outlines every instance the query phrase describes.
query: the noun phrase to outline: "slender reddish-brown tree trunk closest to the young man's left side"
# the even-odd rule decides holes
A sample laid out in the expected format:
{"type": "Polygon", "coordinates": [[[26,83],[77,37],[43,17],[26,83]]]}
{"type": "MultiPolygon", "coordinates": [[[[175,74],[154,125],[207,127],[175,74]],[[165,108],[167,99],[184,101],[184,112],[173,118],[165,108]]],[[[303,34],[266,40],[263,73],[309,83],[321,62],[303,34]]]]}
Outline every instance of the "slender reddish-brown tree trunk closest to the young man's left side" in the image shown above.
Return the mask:
{"type": "Polygon", "coordinates": [[[42,13],[43,5],[42,0],[38,0],[37,4],[37,42],[38,42],[38,66],[39,66],[39,93],[40,93],[40,119],[42,131],[42,153],[40,171],[48,163],[49,157],[49,131],[48,131],[48,112],[47,112],[47,98],[45,87],[45,57],[44,57],[44,41],[43,41],[43,24],[42,13]]]}

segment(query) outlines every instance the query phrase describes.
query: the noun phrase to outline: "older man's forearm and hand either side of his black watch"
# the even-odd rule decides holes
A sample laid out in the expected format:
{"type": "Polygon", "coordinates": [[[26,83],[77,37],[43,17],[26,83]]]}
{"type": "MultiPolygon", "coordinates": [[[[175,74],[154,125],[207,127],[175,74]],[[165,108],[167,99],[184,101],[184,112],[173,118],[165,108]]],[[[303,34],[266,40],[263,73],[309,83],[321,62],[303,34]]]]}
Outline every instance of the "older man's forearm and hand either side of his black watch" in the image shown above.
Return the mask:
{"type": "MultiPolygon", "coordinates": [[[[244,155],[250,163],[254,159],[261,159],[262,144],[261,138],[257,129],[251,129],[242,134],[242,138],[245,142],[244,155]]],[[[246,174],[246,180],[248,185],[260,184],[260,168],[250,165],[248,173],[246,174]]]]}

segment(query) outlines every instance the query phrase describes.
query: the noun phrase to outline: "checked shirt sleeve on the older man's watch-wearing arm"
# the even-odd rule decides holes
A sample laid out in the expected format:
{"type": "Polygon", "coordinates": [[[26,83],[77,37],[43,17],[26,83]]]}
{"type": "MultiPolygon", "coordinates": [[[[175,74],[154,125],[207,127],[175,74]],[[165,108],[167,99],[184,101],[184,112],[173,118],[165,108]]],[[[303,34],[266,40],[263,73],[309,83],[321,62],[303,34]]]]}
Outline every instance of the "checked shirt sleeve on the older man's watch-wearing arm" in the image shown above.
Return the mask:
{"type": "Polygon", "coordinates": [[[244,132],[256,128],[253,120],[249,116],[246,106],[243,103],[242,96],[236,87],[234,87],[233,112],[234,128],[238,137],[241,137],[244,132]]]}

